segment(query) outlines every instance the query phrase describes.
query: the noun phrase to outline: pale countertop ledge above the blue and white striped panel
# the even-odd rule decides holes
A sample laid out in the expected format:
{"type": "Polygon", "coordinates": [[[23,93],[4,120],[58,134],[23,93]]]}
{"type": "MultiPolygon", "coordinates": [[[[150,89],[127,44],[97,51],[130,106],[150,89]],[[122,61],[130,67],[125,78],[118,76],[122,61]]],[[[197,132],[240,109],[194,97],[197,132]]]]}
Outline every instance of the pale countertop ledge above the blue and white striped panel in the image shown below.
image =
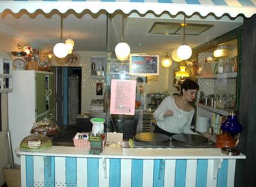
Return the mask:
{"type": "Polygon", "coordinates": [[[121,159],[245,159],[244,154],[227,156],[218,148],[123,148],[122,152],[103,151],[100,155],[89,154],[89,148],[53,146],[45,151],[15,151],[19,155],[58,156],[58,157],[96,157],[121,159]]]}

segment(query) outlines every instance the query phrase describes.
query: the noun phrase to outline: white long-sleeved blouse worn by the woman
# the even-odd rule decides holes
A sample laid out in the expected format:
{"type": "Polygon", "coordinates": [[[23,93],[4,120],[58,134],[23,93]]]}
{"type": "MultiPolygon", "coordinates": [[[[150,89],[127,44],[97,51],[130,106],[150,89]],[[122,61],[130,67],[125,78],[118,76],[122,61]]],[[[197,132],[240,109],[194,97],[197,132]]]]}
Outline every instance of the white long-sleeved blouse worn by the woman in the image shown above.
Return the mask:
{"type": "Polygon", "coordinates": [[[190,133],[191,122],[195,113],[195,109],[187,112],[176,106],[173,96],[164,98],[160,106],[155,110],[153,117],[157,120],[157,125],[162,130],[169,133],[190,133]],[[173,116],[163,117],[166,110],[173,110],[173,116]]]}

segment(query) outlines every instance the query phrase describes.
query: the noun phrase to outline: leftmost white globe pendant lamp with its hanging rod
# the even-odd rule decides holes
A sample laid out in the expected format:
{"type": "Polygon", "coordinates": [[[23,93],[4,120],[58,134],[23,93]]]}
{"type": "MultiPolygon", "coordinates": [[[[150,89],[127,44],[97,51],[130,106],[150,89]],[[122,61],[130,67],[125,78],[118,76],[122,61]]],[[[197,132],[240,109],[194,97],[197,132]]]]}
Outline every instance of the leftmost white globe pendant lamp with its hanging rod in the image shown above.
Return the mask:
{"type": "Polygon", "coordinates": [[[67,45],[62,41],[62,29],[63,29],[63,18],[61,14],[61,42],[56,43],[55,46],[53,47],[54,55],[60,59],[66,57],[69,51],[67,45]]]}

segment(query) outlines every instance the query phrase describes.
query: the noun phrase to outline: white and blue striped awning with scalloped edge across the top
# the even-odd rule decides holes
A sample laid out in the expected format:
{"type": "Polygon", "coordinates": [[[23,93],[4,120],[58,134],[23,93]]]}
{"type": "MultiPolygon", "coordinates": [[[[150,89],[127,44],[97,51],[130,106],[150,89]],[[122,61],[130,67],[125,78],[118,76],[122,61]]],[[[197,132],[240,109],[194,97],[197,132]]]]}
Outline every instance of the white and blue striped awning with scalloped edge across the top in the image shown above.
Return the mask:
{"type": "Polygon", "coordinates": [[[125,14],[130,12],[139,12],[146,14],[154,12],[157,15],[163,12],[169,12],[171,15],[177,15],[184,12],[186,15],[200,14],[207,16],[215,14],[221,17],[228,14],[230,17],[244,15],[251,17],[256,13],[256,0],[7,0],[0,1],[0,12],[4,10],[20,12],[27,10],[33,13],[36,10],[43,10],[49,13],[52,10],[59,10],[61,13],[67,10],[74,10],[77,13],[83,10],[90,10],[97,13],[100,10],[106,10],[113,13],[116,10],[122,10],[125,14]]]}

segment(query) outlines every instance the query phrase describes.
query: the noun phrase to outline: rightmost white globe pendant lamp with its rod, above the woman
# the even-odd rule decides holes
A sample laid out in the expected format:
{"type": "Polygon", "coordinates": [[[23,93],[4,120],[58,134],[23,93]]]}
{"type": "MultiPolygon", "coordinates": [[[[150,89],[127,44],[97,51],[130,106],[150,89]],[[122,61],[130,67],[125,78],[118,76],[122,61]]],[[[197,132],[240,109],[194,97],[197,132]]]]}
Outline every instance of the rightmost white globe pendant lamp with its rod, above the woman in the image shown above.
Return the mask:
{"type": "Polygon", "coordinates": [[[192,56],[192,49],[186,44],[186,16],[184,15],[183,44],[177,48],[177,56],[182,60],[187,60],[192,56]]]}

